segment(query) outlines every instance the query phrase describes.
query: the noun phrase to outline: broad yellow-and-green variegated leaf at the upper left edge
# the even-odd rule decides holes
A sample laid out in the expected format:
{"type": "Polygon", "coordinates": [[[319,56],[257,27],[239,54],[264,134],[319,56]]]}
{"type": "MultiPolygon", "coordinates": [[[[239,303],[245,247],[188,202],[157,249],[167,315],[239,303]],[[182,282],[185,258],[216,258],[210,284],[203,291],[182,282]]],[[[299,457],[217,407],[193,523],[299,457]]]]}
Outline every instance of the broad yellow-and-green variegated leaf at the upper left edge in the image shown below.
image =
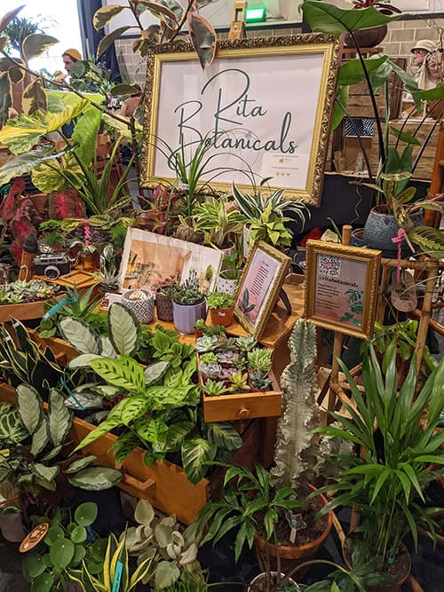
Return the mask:
{"type": "Polygon", "coordinates": [[[66,107],[59,113],[36,113],[31,116],[20,114],[9,120],[0,130],[0,144],[8,146],[12,154],[29,152],[44,134],[59,130],[81,114],[86,107],[88,102],[82,101],[78,105],[66,107]]]}

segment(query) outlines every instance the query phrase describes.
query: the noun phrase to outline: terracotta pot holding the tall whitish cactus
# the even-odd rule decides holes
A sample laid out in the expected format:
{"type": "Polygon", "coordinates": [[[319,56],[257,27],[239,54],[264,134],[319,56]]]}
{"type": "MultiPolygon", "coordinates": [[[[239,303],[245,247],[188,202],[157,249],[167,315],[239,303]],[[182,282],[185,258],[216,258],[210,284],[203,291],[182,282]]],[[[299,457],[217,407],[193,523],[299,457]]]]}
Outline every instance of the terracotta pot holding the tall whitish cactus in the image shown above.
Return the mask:
{"type": "MultiPolygon", "coordinates": [[[[315,491],[316,487],[313,485],[308,485],[312,491],[315,491]]],[[[319,496],[320,500],[322,501],[322,505],[327,505],[327,498],[324,495],[319,496]]],[[[268,543],[268,552],[270,554],[270,565],[272,569],[276,568],[276,557],[281,557],[281,569],[283,572],[289,572],[292,568],[296,567],[297,564],[302,564],[309,559],[312,559],[313,556],[316,555],[321,546],[327,541],[329,537],[329,533],[331,530],[331,526],[333,525],[333,517],[331,512],[327,514],[327,526],[325,531],[318,537],[315,541],[309,542],[306,545],[292,546],[286,547],[284,545],[273,545],[272,543],[268,543]]],[[[261,569],[265,569],[266,566],[266,541],[261,539],[258,534],[254,535],[254,544],[256,549],[256,555],[258,557],[258,564],[261,569]]],[[[306,569],[301,569],[299,572],[300,578],[303,578],[305,573],[308,571],[308,567],[306,569]]]]}

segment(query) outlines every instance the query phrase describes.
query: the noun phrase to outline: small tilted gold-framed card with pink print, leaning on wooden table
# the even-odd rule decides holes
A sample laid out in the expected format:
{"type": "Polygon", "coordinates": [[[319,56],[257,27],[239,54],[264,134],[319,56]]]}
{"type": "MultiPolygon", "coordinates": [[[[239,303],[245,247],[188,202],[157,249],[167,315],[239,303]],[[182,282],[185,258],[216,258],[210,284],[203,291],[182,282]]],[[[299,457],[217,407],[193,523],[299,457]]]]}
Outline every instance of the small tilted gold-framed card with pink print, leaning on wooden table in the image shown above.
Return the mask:
{"type": "Polygon", "coordinates": [[[291,259],[264,241],[258,241],[242,274],[235,296],[234,317],[260,339],[274,309],[291,259]]]}

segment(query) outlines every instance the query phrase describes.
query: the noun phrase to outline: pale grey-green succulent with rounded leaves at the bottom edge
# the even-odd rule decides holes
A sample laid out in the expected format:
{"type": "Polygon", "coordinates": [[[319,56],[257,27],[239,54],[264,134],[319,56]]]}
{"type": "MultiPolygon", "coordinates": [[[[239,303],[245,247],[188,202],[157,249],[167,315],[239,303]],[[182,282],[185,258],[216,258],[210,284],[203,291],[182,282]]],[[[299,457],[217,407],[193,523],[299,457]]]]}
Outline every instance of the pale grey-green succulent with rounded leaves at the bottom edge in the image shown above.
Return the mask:
{"type": "MultiPolygon", "coordinates": [[[[147,500],[138,502],[134,519],[139,525],[127,529],[126,548],[138,557],[138,564],[153,558],[156,590],[172,586],[184,572],[200,570],[195,525],[182,531],[175,516],[157,519],[147,500]]],[[[144,583],[152,577],[148,572],[144,583]]]]}

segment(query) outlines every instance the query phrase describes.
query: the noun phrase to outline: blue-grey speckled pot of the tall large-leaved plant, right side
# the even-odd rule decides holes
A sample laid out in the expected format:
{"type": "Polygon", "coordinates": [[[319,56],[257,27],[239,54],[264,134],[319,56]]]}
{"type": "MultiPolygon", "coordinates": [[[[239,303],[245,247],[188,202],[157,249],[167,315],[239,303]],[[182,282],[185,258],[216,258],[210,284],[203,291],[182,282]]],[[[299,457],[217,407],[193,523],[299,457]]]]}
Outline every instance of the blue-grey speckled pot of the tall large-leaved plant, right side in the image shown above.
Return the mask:
{"type": "MultiPolygon", "coordinates": [[[[415,226],[423,224],[423,213],[421,211],[410,215],[415,226]]],[[[398,235],[399,227],[392,214],[385,213],[385,206],[377,206],[371,209],[369,217],[364,226],[364,242],[370,249],[379,249],[383,257],[398,257],[398,245],[392,239],[398,235]]],[[[401,257],[411,254],[406,241],[401,244],[401,257]]]]}

